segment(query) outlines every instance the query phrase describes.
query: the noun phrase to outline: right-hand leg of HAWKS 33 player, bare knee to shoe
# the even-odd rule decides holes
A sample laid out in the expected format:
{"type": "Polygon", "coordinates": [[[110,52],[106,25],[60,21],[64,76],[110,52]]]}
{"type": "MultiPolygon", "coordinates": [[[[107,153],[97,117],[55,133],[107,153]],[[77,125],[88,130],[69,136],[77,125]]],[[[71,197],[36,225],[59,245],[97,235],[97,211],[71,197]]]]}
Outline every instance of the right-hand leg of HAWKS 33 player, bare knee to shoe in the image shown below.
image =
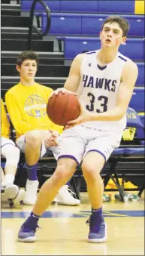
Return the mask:
{"type": "Polygon", "coordinates": [[[83,177],[86,180],[89,201],[92,205],[92,214],[89,218],[89,242],[104,242],[106,240],[105,224],[102,216],[104,184],[100,176],[100,171],[104,166],[104,162],[104,157],[97,152],[87,153],[82,162],[83,177]],[[102,222],[103,224],[101,224],[102,222]],[[103,234],[101,237],[98,233],[102,225],[103,234]]]}

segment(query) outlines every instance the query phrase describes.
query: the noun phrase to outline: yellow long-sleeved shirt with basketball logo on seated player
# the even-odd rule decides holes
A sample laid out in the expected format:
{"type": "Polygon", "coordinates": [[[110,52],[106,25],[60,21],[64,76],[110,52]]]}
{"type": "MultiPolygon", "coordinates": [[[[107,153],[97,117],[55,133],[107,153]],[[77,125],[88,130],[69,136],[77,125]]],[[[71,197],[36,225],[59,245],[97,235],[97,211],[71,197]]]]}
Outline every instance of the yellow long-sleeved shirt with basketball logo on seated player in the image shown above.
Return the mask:
{"type": "Polygon", "coordinates": [[[27,131],[53,130],[62,133],[63,127],[47,116],[47,101],[53,89],[35,82],[34,85],[14,85],[5,94],[5,102],[17,138],[27,131]]]}

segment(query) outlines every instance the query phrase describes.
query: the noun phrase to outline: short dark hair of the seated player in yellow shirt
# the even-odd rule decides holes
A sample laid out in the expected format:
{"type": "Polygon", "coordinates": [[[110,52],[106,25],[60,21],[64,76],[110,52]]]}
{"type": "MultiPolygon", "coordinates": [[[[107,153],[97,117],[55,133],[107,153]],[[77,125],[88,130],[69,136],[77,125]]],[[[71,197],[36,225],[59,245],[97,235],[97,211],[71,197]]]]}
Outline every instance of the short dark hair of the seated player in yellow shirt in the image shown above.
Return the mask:
{"type": "Polygon", "coordinates": [[[38,54],[34,51],[23,51],[17,57],[17,65],[21,66],[24,60],[35,60],[38,66],[38,54]]]}

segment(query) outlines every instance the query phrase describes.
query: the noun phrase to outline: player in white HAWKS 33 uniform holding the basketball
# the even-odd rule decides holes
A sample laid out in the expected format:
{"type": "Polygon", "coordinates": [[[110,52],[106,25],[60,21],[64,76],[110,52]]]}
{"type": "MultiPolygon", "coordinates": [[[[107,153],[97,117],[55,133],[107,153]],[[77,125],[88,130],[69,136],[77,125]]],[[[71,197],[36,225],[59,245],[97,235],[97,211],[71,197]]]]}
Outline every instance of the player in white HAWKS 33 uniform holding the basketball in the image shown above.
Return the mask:
{"type": "Polygon", "coordinates": [[[77,55],[65,88],[54,92],[76,93],[82,113],[62,133],[56,171],[41,187],[30,217],[20,228],[19,241],[35,241],[39,217],[80,163],[92,205],[89,242],[106,241],[107,226],[102,215],[104,184],[100,171],[114,148],[119,147],[126,125],[126,109],[137,79],[136,64],[118,51],[119,45],[126,41],[128,29],[124,18],[107,17],[100,33],[101,48],[77,55]]]}

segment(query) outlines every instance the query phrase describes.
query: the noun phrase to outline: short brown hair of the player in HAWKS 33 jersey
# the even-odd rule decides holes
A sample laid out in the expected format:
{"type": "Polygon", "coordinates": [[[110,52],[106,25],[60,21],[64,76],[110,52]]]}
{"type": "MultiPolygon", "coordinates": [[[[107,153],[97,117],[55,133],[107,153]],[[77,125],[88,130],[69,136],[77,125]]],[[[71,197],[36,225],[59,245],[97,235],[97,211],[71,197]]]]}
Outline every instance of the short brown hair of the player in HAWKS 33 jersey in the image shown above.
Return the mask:
{"type": "Polygon", "coordinates": [[[126,36],[128,34],[128,31],[130,29],[130,25],[128,23],[128,20],[126,20],[123,17],[120,16],[109,16],[104,20],[104,23],[102,24],[102,29],[104,28],[104,24],[106,23],[117,23],[119,24],[119,27],[122,29],[122,36],[126,36]]]}

